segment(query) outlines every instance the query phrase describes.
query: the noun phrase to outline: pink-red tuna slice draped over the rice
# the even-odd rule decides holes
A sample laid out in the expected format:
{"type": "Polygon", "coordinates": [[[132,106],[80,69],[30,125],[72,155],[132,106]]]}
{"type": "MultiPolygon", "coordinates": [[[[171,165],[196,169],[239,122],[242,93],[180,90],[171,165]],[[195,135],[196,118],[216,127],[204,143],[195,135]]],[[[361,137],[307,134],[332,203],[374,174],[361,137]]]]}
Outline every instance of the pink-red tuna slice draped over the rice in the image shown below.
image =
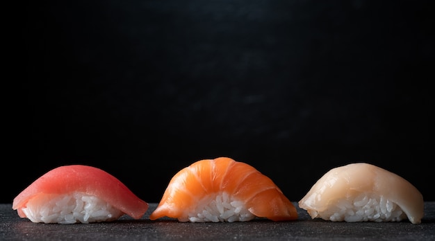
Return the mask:
{"type": "Polygon", "coordinates": [[[148,209],[148,203],[129,190],[120,180],[92,166],[60,166],[50,170],[24,189],[13,200],[12,208],[19,217],[26,217],[22,208],[40,194],[62,195],[83,192],[103,199],[126,215],[138,220],[148,209]]]}

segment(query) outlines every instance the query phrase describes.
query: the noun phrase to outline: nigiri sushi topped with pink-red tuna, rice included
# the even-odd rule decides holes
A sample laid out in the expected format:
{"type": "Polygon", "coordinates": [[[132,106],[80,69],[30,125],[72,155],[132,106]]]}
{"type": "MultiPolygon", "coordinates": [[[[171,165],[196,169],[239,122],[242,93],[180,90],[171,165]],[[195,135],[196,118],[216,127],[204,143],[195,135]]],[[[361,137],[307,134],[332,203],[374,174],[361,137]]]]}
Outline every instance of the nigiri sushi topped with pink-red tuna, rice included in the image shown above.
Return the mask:
{"type": "Polygon", "coordinates": [[[92,166],[60,166],[45,173],[15,199],[13,209],[32,222],[110,222],[126,214],[139,219],[148,203],[120,180],[92,166]]]}

